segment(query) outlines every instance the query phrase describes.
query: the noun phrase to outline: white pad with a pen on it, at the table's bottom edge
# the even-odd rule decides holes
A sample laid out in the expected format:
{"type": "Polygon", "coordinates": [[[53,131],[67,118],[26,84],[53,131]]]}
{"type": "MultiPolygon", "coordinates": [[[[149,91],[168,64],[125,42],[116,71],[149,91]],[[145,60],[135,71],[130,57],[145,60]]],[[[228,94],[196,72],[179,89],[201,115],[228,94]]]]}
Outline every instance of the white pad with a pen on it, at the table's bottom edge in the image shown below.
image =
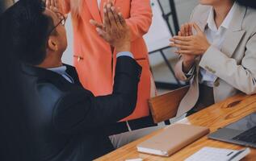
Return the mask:
{"type": "Polygon", "coordinates": [[[215,147],[204,147],[185,161],[238,161],[243,159],[249,153],[250,148],[235,151],[215,147]]]}

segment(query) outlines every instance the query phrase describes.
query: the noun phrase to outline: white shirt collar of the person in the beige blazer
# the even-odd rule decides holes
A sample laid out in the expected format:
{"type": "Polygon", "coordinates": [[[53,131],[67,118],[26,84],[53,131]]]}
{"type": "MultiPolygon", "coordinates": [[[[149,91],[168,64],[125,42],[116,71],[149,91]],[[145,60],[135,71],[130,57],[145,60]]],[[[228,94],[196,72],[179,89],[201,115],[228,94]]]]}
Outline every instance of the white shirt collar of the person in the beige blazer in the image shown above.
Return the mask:
{"type": "MultiPolygon", "coordinates": [[[[225,29],[229,28],[229,25],[233,19],[233,13],[235,12],[235,10],[237,9],[237,3],[235,2],[231,8],[231,10],[229,10],[229,14],[227,14],[227,16],[225,17],[224,21],[221,23],[220,27],[224,27],[225,29]]],[[[214,10],[213,7],[210,11],[210,14],[208,16],[208,20],[207,20],[207,24],[210,30],[212,31],[218,31],[217,27],[216,27],[216,23],[214,20],[214,10]]]]}

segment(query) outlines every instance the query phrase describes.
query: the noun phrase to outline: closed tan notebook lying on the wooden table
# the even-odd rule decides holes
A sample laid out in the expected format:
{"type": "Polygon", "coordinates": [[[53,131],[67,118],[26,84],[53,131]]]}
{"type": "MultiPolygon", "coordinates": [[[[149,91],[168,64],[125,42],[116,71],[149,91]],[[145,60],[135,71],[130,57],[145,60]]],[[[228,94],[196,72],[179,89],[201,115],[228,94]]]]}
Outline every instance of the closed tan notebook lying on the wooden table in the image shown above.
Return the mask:
{"type": "Polygon", "coordinates": [[[174,124],[162,133],[137,145],[137,151],[152,155],[170,156],[208,134],[207,127],[174,124]]]}

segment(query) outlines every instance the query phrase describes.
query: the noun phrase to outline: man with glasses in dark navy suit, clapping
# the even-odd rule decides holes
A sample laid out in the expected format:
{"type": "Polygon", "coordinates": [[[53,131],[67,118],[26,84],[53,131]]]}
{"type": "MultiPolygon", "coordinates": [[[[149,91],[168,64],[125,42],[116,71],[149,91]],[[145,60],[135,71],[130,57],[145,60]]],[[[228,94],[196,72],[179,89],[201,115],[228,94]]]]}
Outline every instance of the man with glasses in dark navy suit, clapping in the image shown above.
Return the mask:
{"type": "Polygon", "coordinates": [[[65,16],[40,1],[19,1],[5,15],[10,51],[21,60],[20,97],[36,160],[86,161],[107,154],[113,147],[103,126],[127,117],[136,106],[141,66],[129,52],[124,18],[115,9],[104,10],[104,27],[96,31],[118,54],[113,93],[102,97],[83,89],[75,68],[61,62],[65,16]]]}

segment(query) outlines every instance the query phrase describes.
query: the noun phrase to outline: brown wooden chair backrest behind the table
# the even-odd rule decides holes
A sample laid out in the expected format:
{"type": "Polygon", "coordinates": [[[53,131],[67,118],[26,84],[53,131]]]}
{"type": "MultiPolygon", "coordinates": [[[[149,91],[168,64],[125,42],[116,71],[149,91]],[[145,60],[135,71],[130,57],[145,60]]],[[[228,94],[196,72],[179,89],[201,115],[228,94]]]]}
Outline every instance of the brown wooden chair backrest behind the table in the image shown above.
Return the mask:
{"type": "Polygon", "coordinates": [[[174,118],[178,111],[178,105],[188,89],[189,86],[185,86],[149,99],[149,108],[153,115],[153,122],[159,123],[174,118]]]}

